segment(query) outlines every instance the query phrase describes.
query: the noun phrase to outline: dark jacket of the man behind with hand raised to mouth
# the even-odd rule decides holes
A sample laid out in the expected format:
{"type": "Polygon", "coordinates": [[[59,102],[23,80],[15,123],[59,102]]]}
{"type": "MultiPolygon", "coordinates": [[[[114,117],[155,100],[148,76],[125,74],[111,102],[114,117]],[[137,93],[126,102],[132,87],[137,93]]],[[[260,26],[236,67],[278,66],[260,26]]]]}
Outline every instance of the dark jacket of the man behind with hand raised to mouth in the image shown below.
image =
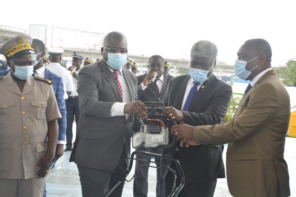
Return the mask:
{"type": "Polygon", "coordinates": [[[141,102],[164,102],[164,96],[168,89],[168,84],[172,78],[174,78],[171,75],[168,75],[166,73],[163,73],[163,85],[162,89],[160,91],[160,94],[158,95],[157,89],[154,83],[149,84],[145,90],[142,89],[142,83],[144,81],[144,78],[147,74],[142,74],[137,76],[138,78],[138,100],[141,102]]]}

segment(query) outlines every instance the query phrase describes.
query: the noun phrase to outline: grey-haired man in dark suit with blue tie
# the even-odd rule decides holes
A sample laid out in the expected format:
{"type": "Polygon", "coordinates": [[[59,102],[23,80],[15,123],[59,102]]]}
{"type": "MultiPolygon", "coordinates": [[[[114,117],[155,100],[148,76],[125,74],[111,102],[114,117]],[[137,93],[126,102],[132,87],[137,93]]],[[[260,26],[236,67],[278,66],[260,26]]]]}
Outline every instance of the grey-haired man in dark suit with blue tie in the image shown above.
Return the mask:
{"type": "MultiPolygon", "coordinates": [[[[190,53],[189,74],[175,77],[165,96],[166,117],[191,126],[220,124],[232,94],[231,87],[213,74],[217,47],[214,43],[196,42],[190,53]]],[[[223,145],[189,146],[165,150],[163,154],[178,159],[185,173],[185,186],[178,197],[213,197],[217,178],[225,178],[223,145]],[[172,151],[172,152],[171,152],[172,151]]],[[[171,164],[176,170],[176,166],[171,164]]],[[[167,173],[165,191],[173,188],[173,174],[167,173]]],[[[178,182],[178,180],[177,180],[178,182]]],[[[178,184],[178,183],[177,183],[178,184]]]]}

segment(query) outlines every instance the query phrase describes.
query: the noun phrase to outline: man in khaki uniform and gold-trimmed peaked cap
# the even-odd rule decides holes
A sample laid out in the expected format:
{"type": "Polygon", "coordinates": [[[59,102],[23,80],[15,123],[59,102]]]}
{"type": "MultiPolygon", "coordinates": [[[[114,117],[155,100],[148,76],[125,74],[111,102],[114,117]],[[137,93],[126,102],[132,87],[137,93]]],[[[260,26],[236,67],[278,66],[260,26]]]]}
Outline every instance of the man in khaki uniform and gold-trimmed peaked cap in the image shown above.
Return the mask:
{"type": "Polygon", "coordinates": [[[0,48],[11,69],[0,78],[1,197],[41,197],[55,155],[62,116],[51,82],[32,77],[31,44],[19,35],[0,48]]]}

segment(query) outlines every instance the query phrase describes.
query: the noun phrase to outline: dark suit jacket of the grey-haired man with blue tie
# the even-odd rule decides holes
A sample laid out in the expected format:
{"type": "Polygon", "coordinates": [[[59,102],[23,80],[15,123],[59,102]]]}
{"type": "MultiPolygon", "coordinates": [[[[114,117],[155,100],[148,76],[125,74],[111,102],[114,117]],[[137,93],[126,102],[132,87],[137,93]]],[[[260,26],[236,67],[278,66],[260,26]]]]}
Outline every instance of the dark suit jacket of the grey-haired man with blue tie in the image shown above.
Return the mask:
{"type": "MultiPolygon", "coordinates": [[[[182,102],[189,80],[189,75],[173,78],[168,85],[164,103],[182,110],[182,102]]],[[[226,83],[212,75],[205,81],[184,113],[184,123],[191,126],[220,124],[224,118],[232,89],[226,83]]],[[[222,160],[223,145],[180,147],[179,162],[188,182],[206,182],[216,178],[224,178],[222,160]]],[[[164,149],[166,155],[174,155],[175,149],[164,149]],[[172,152],[173,153],[172,153],[172,152]]]]}

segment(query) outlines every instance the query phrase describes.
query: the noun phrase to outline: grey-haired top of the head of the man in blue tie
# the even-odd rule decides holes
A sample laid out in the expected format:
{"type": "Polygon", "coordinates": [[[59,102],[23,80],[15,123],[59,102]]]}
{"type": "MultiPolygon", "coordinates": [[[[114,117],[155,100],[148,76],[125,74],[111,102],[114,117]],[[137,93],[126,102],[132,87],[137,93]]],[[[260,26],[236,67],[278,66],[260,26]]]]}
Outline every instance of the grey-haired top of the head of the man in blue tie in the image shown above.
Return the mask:
{"type": "Polygon", "coordinates": [[[213,66],[217,58],[217,53],[217,46],[213,42],[200,40],[195,42],[191,48],[190,61],[213,66]]]}

